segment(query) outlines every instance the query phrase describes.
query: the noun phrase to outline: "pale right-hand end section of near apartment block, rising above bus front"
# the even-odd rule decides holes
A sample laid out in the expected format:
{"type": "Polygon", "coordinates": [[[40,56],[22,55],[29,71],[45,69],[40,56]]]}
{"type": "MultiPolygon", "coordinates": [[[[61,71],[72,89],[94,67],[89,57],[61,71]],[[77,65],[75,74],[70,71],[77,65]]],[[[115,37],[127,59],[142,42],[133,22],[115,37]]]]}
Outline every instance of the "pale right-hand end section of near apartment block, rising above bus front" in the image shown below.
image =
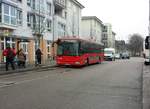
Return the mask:
{"type": "Polygon", "coordinates": [[[66,0],[64,5],[55,7],[55,40],[81,35],[81,10],[84,6],[77,0],[66,0]]]}

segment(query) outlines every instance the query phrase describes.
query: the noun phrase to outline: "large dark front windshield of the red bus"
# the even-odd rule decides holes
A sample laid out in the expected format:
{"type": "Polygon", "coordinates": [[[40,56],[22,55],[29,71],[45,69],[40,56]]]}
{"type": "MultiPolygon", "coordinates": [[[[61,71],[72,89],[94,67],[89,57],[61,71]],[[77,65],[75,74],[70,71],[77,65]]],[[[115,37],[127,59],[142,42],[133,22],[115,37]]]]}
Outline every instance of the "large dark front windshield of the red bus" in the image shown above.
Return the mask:
{"type": "Polygon", "coordinates": [[[78,56],[79,43],[77,41],[63,41],[58,45],[58,56],[78,56]]]}

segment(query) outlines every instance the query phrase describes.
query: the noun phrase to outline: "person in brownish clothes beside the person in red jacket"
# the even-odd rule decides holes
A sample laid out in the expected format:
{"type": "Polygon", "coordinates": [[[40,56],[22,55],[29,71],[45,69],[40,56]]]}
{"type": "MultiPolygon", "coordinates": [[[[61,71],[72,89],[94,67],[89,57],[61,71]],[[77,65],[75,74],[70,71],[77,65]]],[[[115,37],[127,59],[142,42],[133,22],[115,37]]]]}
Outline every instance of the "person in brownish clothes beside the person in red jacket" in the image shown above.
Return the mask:
{"type": "Polygon", "coordinates": [[[18,67],[26,67],[25,63],[26,63],[26,55],[23,52],[23,49],[21,48],[18,53],[17,53],[17,58],[18,58],[18,67]]]}

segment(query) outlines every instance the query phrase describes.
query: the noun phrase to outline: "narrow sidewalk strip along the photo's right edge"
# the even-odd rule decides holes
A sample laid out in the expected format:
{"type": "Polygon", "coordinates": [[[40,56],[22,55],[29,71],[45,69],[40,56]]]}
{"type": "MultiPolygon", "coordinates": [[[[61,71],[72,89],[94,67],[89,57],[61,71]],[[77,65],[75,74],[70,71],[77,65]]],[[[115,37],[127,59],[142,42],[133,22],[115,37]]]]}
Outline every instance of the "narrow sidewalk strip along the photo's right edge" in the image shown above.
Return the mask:
{"type": "Polygon", "coordinates": [[[150,109],[150,65],[143,65],[143,109],[150,109]]]}

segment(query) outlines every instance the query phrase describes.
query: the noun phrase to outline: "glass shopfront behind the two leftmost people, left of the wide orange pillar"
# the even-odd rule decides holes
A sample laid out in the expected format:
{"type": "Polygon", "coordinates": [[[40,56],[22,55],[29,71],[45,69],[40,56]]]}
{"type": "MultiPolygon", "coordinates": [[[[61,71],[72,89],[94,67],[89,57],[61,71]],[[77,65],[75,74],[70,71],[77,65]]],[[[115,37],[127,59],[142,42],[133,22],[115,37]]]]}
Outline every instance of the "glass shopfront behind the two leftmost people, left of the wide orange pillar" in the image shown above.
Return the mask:
{"type": "MultiPolygon", "coordinates": [[[[15,36],[12,34],[10,30],[1,30],[0,34],[0,62],[6,62],[6,58],[2,55],[3,50],[6,49],[7,46],[15,49],[16,52],[22,48],[26,54],[27,61],[29,60],[29,44],[31,39],[27,39],[24,37],[15,36]]],[[[32,39],[33,40],[33,39],[32,39]]],[[[33,41],[32,41],[33,42],[33,41]]],[[[32,54],[31,54],[32,55],[32,54]]]]}

